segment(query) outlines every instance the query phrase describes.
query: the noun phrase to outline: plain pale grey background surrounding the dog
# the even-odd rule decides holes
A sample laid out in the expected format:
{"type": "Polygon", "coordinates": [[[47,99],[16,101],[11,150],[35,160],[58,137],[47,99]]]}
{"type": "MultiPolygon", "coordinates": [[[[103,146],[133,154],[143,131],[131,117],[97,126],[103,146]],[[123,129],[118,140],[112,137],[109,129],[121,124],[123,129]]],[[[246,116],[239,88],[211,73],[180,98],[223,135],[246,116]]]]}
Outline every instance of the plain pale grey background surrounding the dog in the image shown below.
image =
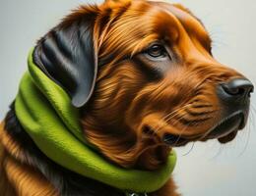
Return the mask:
{"type": "MultiPolygon", "coordinates": [[[[0,0],[0,119],[17,93],[34,42],[69,10],[85,2],[89,1],[0,0]]],[[[255,0],[172,2],[181,2],[202,19],[212,35],[214,55],[220,62],[256,83],[255,0]]],[[[184,196],[256,195],[255,118],[254,112],[245,130],[230,144],[210,141],[177,150],[174,177],[184,196]]]]}

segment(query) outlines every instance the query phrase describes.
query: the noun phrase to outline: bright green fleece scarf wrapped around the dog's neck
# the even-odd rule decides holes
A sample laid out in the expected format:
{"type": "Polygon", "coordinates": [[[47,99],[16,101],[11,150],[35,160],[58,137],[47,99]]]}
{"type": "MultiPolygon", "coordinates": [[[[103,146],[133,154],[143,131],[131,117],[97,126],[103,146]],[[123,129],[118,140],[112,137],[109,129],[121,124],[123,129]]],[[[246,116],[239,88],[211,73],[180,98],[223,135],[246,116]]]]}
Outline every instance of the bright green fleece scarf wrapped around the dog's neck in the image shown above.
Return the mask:
{"type": "Polygon", "coordinates": [[[103,159],[84,138],[79,111],[54,81],[28,60],[29,72],[23,76],[15,101],[19,121],[36,146],[60,166],[128,192],[153,192],[167,181],[176,155],[158,171],[127,170],[103,159]]]}

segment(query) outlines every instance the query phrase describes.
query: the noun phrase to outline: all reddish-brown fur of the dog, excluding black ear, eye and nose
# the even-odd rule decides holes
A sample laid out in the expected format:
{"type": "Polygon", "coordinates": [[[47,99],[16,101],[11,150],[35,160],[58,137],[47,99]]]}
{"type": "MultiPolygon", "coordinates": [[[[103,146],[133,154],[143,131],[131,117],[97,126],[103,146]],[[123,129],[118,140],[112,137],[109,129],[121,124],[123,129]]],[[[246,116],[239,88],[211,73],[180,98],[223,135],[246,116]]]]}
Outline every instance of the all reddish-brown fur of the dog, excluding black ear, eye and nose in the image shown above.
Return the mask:
{"type": "MultiPolygon", "coordinates": [[[[171,150],[162,136],[204,138],[222,118],[216,85],[241,74],[214,59],[205,27],[180,5],[107,1],[81,7],[61,25],[69,26],[92,13],[96,14],[95,45],[102,66],[94,96],[82,111],[85,136],[114,164],[157,170],[171,150]],[[142,55],[156,40],[172,51],[167,66],[153,64],[142,55]],[[149,79],[144,71],[154,68],[163,69],[164,74],[149,79]]],[[[5,176],[0,184],[6,187],[6,195],[14,190],[19,195],[56,195],[51,184],[28,165],[19,145],[2,131],[3,124],[0,129],[1,175],[5,176]]],[[[169,179],[150,195],[177,196],[175,189],[169,179]]]]}

